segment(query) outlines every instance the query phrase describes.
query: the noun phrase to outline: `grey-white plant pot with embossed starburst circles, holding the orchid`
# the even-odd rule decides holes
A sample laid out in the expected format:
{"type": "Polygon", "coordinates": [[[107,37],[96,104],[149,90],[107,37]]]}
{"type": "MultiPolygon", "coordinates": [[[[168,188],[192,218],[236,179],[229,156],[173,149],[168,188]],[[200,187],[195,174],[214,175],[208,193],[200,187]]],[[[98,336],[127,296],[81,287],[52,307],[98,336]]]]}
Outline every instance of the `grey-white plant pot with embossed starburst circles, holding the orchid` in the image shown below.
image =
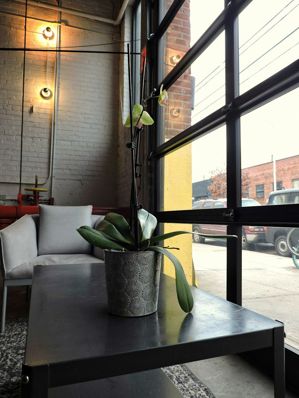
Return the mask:
{"type": "Polygon", "coordinates": [[[108,311],[143,316],[157,310],[161,253],[104,250],[108,311]]]}

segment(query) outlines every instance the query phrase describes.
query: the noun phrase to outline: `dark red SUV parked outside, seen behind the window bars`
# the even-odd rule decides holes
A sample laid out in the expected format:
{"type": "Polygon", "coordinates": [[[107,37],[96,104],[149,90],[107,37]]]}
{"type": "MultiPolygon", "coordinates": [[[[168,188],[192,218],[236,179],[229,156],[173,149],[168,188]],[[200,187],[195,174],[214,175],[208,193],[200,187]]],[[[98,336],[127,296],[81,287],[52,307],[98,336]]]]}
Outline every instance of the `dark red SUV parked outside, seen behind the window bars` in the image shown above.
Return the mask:
{"type": "MultiPolygon", "coordinates": [[[[261,206],[254,199],[242,199],[242,206],[261,206]]],[[[206,199],[204,200],[199,209],[219,209],[225,208],[226,198],[224,199],[206,199]]],[[[218,234],[226,235],[226,225],[215,224],[193,224],[193,232],[200,232],[202,234],[218,234]]],[[[245,249],[249,244],[266,243],[267,227],[263,226],[242,226],[242,249],[245,249]]],[[[193,242],[204,243],[205,238],[200,235],[193,235],[193,242]]]]}

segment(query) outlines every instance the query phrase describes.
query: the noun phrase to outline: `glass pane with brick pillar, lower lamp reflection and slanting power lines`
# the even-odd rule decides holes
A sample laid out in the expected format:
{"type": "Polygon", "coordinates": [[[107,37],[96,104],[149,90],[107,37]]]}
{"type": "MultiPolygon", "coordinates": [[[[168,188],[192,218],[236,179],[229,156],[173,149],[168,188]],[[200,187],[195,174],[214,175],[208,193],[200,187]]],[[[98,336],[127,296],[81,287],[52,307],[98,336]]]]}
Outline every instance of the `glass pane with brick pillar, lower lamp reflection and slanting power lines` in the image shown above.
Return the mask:
{"type": "Polygon", "coordinates": [[[225,103],[224,33],[167,90],[163,107],[165,139],[197,123],[225,103]]]}

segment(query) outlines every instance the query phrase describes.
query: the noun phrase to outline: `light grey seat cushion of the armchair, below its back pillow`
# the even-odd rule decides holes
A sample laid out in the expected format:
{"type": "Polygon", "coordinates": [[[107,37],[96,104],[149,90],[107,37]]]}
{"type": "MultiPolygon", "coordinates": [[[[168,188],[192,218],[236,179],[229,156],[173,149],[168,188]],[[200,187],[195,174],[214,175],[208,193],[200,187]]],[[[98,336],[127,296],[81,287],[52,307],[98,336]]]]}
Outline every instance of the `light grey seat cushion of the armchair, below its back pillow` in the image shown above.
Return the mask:
{"type": "Polygon", "coordinates": [[[102,263],[102,259],[96,258],[91,254],[44,254],[37,256],[31,261],[18,265],[6,273],[7,279],[31,279],[33,267],[35,265],[53,265],[53,264],[87,264],[102,263]]]}

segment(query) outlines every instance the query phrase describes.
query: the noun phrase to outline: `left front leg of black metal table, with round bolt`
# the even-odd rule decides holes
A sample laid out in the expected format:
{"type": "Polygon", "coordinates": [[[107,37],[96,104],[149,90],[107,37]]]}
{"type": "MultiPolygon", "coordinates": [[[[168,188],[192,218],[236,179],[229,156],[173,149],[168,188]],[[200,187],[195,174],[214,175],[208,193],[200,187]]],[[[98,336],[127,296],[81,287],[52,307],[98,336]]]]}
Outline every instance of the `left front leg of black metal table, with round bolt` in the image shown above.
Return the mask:
{"type": "Polygon", "coordinates": [[[49,365],[22,365],[21,398],[47,398],[49,365]]]}

